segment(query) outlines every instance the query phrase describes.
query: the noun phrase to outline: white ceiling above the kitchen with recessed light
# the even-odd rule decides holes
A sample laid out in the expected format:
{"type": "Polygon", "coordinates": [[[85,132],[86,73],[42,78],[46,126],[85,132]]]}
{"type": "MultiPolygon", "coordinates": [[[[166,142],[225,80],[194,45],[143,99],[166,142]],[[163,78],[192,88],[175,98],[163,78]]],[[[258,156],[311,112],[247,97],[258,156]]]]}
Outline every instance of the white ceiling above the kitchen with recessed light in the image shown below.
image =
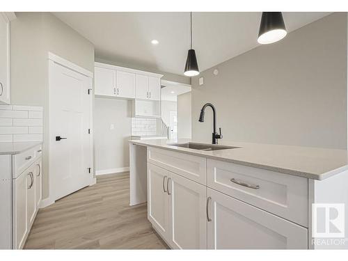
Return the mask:
{"type": "MultiPolygon", "coordinates": [[[[283,13],[287,31],[330,13],[283,13]]],[[[95,45],[95,56],[183,74],[189,13],[54,13],[95,45]],[[159,45],[152,45],[152,39],[159,45]]],[[[258,46],[261,13],[193,13],[200,71],[258,46]]]]}

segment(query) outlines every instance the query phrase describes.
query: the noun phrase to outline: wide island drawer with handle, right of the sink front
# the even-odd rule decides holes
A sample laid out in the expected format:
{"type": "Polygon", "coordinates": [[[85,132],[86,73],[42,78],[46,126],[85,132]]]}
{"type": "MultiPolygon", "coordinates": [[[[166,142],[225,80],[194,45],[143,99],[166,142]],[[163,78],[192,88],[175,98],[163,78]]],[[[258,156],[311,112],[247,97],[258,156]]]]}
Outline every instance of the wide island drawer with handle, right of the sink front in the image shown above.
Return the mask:
{"type": "Polygon", "coordinates": [[[207,186],[308,227],[304,177],[208,159],[207,186]]]}

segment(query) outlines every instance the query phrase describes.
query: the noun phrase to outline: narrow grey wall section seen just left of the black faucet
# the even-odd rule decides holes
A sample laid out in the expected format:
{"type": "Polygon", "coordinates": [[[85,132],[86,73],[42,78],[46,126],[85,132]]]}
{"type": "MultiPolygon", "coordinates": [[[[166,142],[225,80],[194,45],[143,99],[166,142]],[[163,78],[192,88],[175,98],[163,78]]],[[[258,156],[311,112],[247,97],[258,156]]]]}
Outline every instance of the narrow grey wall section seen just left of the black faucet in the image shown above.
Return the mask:
{"type": "MultiPolygon", "coordinates": [[[[191,139],[191,92],[177,95],[177,138],[191,139]]],[[[193,118],[195,114],[193,114],[193,118]]]]}

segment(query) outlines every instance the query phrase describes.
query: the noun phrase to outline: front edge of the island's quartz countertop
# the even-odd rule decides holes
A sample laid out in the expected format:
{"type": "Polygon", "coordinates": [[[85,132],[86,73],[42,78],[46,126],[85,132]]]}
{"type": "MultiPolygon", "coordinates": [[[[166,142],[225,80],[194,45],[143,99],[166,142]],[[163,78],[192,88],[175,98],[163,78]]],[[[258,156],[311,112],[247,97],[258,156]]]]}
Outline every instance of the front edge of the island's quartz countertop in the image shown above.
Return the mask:
{"type": "Polygon", "coordinates": [[[181,152],[184,154],[189,154],[189,155],[195,155],[198,157],[205,157],[207,159],[216,159],[219,161],[226,161],[226,162],[231,162],[231,163],[235,163],[235,164],[240,164],[240,165],[244,165],[244,166],[250,166],[250,167],[255,167],[255,168],[262,168],[264,170],[267,171],[275,171],[278,173],[283,173],[283,174],[287,174],[287,175],[294,175],[297,177],[305,177],[308,178],[310,180],[326,180],[329,177],[332,177],[333,175],[337,175],[338,173],[341,173],[342,171],[347,171],[348,170],[348,166],[342,166],[340,168],[336,168],[332,171],[323,173],[323,174],[315,174],[315,173],[306,173],[303,171],[294,171],[291,169],[287,169],[287,168],[279,168],[279,167],[275,167],[275,166],[268,166],[268,165],[262,165],[262,164],[255,164],[252,162],[248,162],[248,161],[239,161],[237,159],[226,159],[223,157],[216,157],[213,155],[202,155],[200,153],[196,153],[194,151],[191,150],[177,150],[176,148],[171,148],[168,145],[157,145],[157,144],[144,144],[141,142],[141,140],[139,140],[139,142],[134,141],[134,140],[130,140],[129,143],[134,143],[136,145],[141,145],[144,147],[154,147],[154,148],[161,148],[164,150],[171,150],[174,152],[181,152]]]}

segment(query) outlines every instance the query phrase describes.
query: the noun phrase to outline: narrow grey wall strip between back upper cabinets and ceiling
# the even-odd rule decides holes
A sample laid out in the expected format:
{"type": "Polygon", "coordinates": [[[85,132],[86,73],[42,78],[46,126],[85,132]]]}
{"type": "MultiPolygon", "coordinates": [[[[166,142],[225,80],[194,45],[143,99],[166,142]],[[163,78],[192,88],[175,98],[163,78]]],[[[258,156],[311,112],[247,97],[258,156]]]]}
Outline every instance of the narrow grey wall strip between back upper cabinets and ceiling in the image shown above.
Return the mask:
{"type": "Polygon", "coordinates": [[[129,63],[120,63],[119,61],[113,60],[112,58],[101,58],[101,57],[95,57],[95,61],[99,63],[108,63],[120,67],[125,67],[125,68],[132,68],[135,70],[143,70],[145,72],[154,72],[158,74],[163,74],[163,77],[161,78],[162,80],[167,80],[167,81],[175,81],[180,84],[191,84],[191,78],[186,77],[184,75],[178,75],[178,74],[173,74],[170,72],[162,72],[160,70],[156,70],[154,68],[148,68],[144,67],[141,65],[137,64],[129,64],[129,63]]]}

